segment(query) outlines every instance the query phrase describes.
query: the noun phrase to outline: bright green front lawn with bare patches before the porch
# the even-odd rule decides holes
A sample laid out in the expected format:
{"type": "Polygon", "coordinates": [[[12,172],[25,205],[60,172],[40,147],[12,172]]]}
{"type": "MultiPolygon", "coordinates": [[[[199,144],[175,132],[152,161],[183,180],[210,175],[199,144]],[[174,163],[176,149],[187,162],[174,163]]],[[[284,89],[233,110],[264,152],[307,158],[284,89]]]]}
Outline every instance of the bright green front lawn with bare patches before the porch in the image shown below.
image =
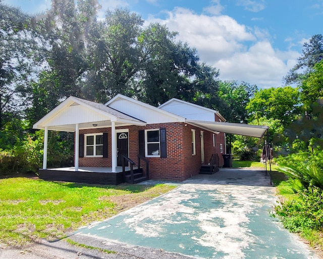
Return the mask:
{"type": "Polygon", "coordinates": [[[169,185],[94,186],[30,178],[0,179],[1,242],[54,240],[166,193],[169,185]]]}

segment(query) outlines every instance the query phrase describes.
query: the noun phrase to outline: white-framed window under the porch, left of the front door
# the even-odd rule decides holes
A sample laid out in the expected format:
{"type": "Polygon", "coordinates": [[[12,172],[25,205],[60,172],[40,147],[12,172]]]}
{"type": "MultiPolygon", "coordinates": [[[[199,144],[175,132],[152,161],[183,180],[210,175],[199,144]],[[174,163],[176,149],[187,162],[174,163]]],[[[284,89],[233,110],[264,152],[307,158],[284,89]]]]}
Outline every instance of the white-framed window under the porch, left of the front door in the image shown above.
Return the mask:
{"type": "Polygon", "coordinates": [[[103,157],[103,134],[84,135],[85,157],[103,157]]]}

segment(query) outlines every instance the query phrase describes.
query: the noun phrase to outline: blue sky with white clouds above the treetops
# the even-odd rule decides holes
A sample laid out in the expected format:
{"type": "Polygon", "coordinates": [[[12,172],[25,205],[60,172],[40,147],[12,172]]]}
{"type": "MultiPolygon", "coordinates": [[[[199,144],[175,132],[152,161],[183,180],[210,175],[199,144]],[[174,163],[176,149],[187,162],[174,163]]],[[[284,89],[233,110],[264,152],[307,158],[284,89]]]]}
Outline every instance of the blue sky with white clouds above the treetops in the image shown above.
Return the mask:
{"type": "MultiPolygon", "coordinates": [[[[258,87],[282,86],[302,45],[323,34],[323,0],[98,0],[106,9],[127,7],[146,21],[178,31],[178,40],[200,61],[220,69],[221,80],[258,87]]],[[[29,13],[50,9],[50,0],[4,0],[29,13]]]]}

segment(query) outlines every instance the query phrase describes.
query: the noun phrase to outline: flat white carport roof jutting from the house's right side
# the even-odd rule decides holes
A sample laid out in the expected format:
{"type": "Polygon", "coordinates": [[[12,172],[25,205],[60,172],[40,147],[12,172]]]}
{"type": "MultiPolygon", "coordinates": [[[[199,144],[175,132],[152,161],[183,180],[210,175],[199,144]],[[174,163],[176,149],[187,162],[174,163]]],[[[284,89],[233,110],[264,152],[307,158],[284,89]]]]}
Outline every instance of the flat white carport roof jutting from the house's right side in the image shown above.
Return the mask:
{"type": "Polygon", "coordinates": [[[261,138],[268,130],[267,126],[229,123],[229,122],[212,122],[212,121],[196,121],[186,120],[187,123],[217,132],[232,133],[243,136],[261,138]]]}

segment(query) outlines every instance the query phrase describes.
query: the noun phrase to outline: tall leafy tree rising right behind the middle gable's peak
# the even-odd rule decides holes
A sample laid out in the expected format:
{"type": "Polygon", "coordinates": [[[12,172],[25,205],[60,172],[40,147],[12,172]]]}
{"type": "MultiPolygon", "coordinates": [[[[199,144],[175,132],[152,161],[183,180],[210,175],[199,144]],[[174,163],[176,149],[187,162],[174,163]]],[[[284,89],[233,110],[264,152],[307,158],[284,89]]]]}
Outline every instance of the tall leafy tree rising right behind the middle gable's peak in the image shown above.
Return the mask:
{"type": "Polygon", "coordinates": [[[98,34],[93,56],[96,98],[109,99],[117,93],[131,95],[130,81],[147,58],[140,42],[143,20],[127,9],[107,11],[98,34]]]}

